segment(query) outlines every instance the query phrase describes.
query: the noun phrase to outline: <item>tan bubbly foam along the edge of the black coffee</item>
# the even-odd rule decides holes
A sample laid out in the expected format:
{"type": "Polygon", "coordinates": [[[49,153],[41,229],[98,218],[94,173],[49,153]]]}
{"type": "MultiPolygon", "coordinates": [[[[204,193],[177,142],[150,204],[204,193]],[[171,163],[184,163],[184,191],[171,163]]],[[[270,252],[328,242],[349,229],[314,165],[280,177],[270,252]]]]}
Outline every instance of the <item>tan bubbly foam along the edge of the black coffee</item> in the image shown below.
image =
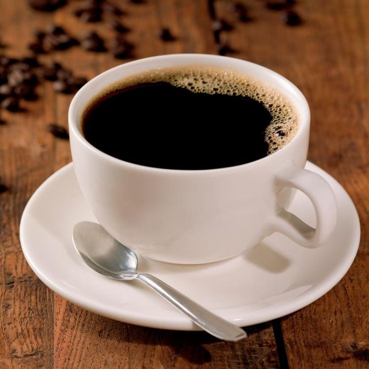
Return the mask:
{"type": "MultiPolygon", "coordinates": [[[[269,148],[268,155],[287,145],[299,127],[297,114],[292,104],[278,90],[254,77],[218,67],[194,65],[151,69],[110,85],[95,96],[93,101],[115,90],[140,83],[154,82],[167,82],[195,93],[248,96],[262,103],[272,115],[272,120],[265,130],[265,141],[269,148]]],[[[90,106],[91,104],[87,105],[84,114],[90,106]]]]}

